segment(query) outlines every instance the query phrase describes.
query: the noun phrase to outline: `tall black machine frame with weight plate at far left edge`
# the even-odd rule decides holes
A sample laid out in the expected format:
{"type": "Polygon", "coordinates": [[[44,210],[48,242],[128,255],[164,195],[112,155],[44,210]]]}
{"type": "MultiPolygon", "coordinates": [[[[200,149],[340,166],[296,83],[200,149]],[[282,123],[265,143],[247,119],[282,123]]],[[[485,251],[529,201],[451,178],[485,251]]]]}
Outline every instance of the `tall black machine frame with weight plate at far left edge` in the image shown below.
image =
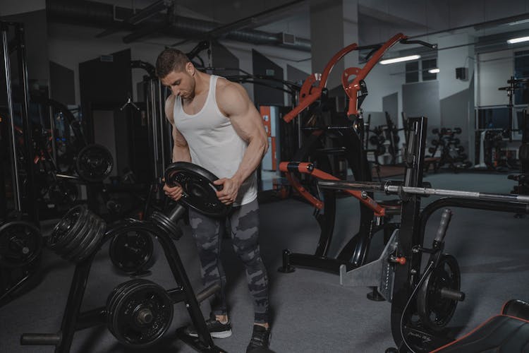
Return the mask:
{"type": "MultiPolygon", "coordinates": [[[[20,174],[22,167],[18,160],[19,153],[26,156],[33,155],[32,148],[32,127],[30,124],[29,107],[29,86],[28,68],[26,64],[24,25],[22,23],[0,22],[2,54],[4,63],[4,78],[6,82],[6,105],[7,114],[1,116],[0,131],[7,130],[7,133],[0,134],[2,149],[8,148],[9,166],[11,169],[11,184],[13,193],[14,220],[8,216],[7,197],[1,202],[5,202],[0,215],[3,225],[0,226],[0,305],[13,299],[17,294],[30,287],[31,280],[35,279],[37,269],[40,265],[42,252],[42,234],[39,229],[39,215],[35,204],[35,174],[33,161],[25,158],[23,169],[26,174],[25,191],[22,187],[20,174]],[[16,54],[16,64],[18,64],[18,86],[13,85],[11,78],[11,54],[16,54]],[[16,126],[14,121],[15,97],[18,97],[20,104],[20,116],[23,124],[23,151],[18,151],[16,144],[16,126]],[[2,141],[6,136],[6,140],[2,141]],[[26,221],[27,220],[27,221],[26,221]]],[[[1,181],[4,181],[4,160],[0,161],[2,166],[1,181]]],[[[3,182],[0,188],[4,195],[6,183],[3,182]]]]}

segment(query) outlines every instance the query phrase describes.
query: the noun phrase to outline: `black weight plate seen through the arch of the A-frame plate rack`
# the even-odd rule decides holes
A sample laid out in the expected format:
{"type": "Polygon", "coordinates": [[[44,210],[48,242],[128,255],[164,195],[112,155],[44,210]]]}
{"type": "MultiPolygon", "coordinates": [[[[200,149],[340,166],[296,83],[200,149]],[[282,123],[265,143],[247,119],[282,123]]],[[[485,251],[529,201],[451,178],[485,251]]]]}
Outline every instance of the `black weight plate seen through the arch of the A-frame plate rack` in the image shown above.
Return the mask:
{"type": "Polygon", "coordinates": [[[152,235],[143,229],[126,227],[112,239],[109,247],[110,260],[124,273],[147,270],[151,263],[154,243],[152,235]]]}

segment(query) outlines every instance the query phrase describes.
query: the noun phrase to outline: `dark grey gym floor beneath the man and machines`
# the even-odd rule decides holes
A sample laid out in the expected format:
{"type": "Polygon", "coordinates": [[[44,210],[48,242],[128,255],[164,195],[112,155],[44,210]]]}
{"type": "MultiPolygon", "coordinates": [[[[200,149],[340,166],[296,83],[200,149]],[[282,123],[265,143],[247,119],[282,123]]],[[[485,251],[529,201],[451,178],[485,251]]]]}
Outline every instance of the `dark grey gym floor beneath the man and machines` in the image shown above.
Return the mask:
{"type": "MultiPolygon", "coordinates": [[[[509,193],[513,183],[506,174],[429,174],[436,189],[458,189],[509,193]]],[[[422,198],[422,205],[434,200],[422,198]]],[[[330,254],[357,232],[358,202],[352,198],[337,201],[334,244],[330,254]]],[[[272,343],[277,353],[384,352],[394,345],[389,313],[391,304],[366,299],[367,288],[342,287],[339,276],[297,268],[294,273],[276,271],[281,265],[281,251],[312,253],[319,237],[319,227],[310,205],[293,199],[261,205],[261,251],[269,270],[272,304],[272,343]]],[[[459,335],[501,311],[508,299],[528,300],[529,217],[516,218],[511,213],[454,208],[446,235],[447,253],[458,259],[461,290],[466,300],[458,304],[450,326],[460,328],[459,335]]],[[[439,222],[438,211],[427,225],[425,246],[430,246],[439,222]]],[[[53,227],[53,222],[47,225],[53,227]]],[[[200,268],[190,229],[176,244],[195,292],[200,285],[200,268]]],[[[382,250],[382,234],[375,235],[370,259],[382,250]]],[[[216,340],[226,352],[245,352],[253,321],[253,309],[246,288],[243,266],[234,255],[229,240],[224,240],[224,267],[229,281],[228,296],[233,335],[216,340]]],[[[107,243],[108,244],[108,243],[107,243]]],[[[174,287],[168,265],[159,247],[157,262],[148,279],[165,288],[174,287]]],[[[55,333],[59,330],[73,275],[73,265],[51,251],[44,250],[42,280],[37,287],[0,308],[0,352],[53,352],[54,347],[20,346],[22,333],[55,333]]],[[[87,283],[82,311],[103,306],[111,290],[128,277],[116,273],[108,249],[97,254],[87,283]]],[[[208,304],[202,311],[209,314],[208,304]]],[[[175,340],[174,329],[188,323],[183,304],[176,304],[174,321],[163,340],[145,352],[195,352],[175,340]]],[[[75,333],[71,352],[141,352],[120,345],[104,327],[75,333]]]]}

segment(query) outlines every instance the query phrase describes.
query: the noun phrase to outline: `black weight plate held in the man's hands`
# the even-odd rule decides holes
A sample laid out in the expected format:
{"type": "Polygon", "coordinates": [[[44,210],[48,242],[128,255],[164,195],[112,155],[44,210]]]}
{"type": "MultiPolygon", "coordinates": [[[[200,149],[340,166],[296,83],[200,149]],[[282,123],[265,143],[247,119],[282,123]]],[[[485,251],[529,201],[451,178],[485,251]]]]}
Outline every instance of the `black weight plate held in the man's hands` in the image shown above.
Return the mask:
{"type": "Polygon", "coordinates": [[[217,198],[219,186],[213,181],[219,179],[212,172],[196,164],[175,162],[165,169],[165,181],[169,186],[180,184],[183,195],[179,202],[209,217],[224,217],[230,210],[217,198]]]}

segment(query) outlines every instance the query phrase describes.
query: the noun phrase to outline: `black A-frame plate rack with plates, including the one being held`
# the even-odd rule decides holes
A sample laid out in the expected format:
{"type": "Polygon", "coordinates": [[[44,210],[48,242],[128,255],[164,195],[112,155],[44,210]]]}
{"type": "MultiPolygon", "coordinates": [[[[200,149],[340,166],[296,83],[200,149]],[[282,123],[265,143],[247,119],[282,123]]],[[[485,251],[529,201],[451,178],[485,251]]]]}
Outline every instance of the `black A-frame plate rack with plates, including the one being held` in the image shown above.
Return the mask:
{"type": "Polygon", "coordinates": [[[183,196],[168,214],[154,211],[150,220],[122,220],[107,227],[104,220],[83,206],[76,206],[66,213],[54,227],[47,245],[62,258],[75,264],[68,301],[58,333],[25,333],[22,345],[54,345],[56,353],[70,352],[75,331],[97,325],[107,325],[109,331],[123,345],[146,348],[159,342],[169,329],[174,304],[186,304],[198,337],[190,337],[184,328],[176,330],[176,337],[198,352],[224,352],[214,345],[206,328],[200,301],[220,289],[212,285],[195,295],[186,270],[183,268],[174,240],[181,237],[176,222],[186,208],[209,217],[225,217],[229,207],[217,198],[213,181],[218,178],[202,167],[187,162],[169,164],[165,180],[169,186],[180,184],[183,196]],[[135,278],[116,286],[109,294],[105,306],[80,311],[90,268],[103,244],[120,234],[141,232],[154,237],[164,250],[176,287],[164,289],[145,278],[135,278]],[[130,310],[133,307],[133,310],[130,310]]]}

